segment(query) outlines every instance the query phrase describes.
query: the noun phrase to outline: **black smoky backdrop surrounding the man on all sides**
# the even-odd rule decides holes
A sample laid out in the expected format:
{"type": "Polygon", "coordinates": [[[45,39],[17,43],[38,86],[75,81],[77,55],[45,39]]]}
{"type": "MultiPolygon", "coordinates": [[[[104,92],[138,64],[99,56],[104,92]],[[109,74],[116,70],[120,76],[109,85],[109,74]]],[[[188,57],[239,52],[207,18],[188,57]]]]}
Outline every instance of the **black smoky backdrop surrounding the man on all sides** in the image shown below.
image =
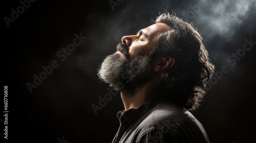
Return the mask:
{"type": "MultiPolygon", "coordinates": [[[[255,44],[236,63],[227,62],[232,53],[243,49],[245,39],[256,41],[255,1],[248,3],[246,9],[241,1],[207,1],[188,19],[202,34],[216,71],[223,65],[229,69],[193,113],[211,142],[256,140],[255,44]]],[[[11,9],[16,10],[20,3],[2,2],[2,84],[8,86],[8,141],[111,142],[119,126],[116,112],[123,110],[119,93],[97,114],[91,107],[98,105],[99,96],[109,93],[108,85],[97,77],[102,59],[116,51],[122,36],[150,26],[159,12],[173,10],[181,17],[198,4],[133,0],[123,1],[113,10],[108,0],[35,1],[8,28],[4,17],[11,17],[11,9]],[[61,61],[56,53],[80,33],[87,39],[61,61]],[[42,66],[53,60],[59,66],[30,93],[26,84],[33,84],[33,75],[38,76],[44,71],[42,66]]],[[[1,139],[7,142],[3,120],[0,123],[1,139]]]]}

